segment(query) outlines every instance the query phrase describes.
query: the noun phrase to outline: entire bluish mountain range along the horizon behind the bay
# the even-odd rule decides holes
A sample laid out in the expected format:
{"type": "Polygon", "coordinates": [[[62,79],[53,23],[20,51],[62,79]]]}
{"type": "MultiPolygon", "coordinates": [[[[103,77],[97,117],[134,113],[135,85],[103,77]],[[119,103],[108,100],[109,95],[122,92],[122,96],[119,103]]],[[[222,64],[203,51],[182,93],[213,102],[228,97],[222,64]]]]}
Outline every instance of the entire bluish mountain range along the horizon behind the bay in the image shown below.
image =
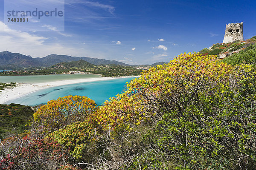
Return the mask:
{"type": "MultiPolygon", "coordinates": [[[[0,52],[0,69],[50,67],[52,65],[55,65],[61,62],[79,61],[81,59],[93,65],[115,64],[115,65],[131,66],[116,60],[97,59],[97,58],[90,58],[90,57],[72,57],[67,55],[56,55],[56,54],[51,54],[42,58],[39,58],[39,57],[33,58],[29,55],[26,56],[20,53],[3,51],[3,52],[0,52]]],[[[158,63],[163,64],[165,62],[158,62],[158,63]]],[[[151,66],[154,66],[154,65],[157,65],[157,63],[154,63],[151,66]]],[[[138,65],[134,65],[134,66],[138,66],[138,65]]]]}

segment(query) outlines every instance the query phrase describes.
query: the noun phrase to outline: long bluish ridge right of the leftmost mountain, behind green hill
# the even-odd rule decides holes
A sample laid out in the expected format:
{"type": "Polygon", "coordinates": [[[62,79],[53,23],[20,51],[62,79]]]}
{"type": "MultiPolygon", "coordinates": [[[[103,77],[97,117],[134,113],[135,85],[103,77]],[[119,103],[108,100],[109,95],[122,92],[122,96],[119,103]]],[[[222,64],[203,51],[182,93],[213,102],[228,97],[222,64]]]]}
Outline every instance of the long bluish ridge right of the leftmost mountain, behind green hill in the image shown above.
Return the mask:
{"type": "Polygon", "coordinates": [[[71,57],[67,55],[56,55],[51,54],[43,58],[35,58],[38,62],[44,63],[46,66],[52,66],[60,62],[71,62],[71,61],[79,61],[84,60],[90,62],[94,65],[106,65],[106,64],[117,64],[117,65],[128,65],[123,62],[118,62],[115,60],[107,60],[107,59],[97,59],[97,58],[90,58],[90,57],[71,57]]]}

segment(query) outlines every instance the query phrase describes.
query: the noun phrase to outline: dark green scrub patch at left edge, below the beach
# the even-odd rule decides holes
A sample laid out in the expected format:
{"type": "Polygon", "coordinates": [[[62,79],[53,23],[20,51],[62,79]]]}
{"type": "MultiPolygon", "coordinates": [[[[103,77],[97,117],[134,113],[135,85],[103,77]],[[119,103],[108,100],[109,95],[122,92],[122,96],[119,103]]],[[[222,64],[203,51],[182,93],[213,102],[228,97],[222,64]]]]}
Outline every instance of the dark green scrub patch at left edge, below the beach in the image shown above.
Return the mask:
{"type": "Polygon", "coordinates": [[[10,104],[0,105],[0,139],[17,133],[24,133],[26,124],[32,119],[34,111],[29,106],[10,104]]]}

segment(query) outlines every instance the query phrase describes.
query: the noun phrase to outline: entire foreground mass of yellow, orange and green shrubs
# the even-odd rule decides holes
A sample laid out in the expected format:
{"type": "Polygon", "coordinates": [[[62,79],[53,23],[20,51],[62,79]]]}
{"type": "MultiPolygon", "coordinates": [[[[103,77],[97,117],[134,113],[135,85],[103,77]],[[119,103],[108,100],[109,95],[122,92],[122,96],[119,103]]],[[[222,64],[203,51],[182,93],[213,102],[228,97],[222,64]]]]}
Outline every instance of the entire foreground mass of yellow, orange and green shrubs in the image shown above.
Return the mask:
{"type": "Polygon", "coordinates": [[[53,100],[27,137],[2,142],[0,169],[255,170],[250,64],[184,53],[100,107],[81,96],[53,100]]]}

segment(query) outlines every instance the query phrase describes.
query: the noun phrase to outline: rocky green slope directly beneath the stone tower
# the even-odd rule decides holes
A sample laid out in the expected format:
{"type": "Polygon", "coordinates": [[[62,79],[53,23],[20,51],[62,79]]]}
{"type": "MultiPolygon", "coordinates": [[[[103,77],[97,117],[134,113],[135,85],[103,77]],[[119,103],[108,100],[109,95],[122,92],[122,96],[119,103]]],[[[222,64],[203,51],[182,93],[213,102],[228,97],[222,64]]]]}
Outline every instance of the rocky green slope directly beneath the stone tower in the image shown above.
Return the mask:
{"type": "Polygon", "coordinates": [[[218,55],[219,59],[231,56],[243,51],[245,48],[256,43],[256,36],[245,41],[234,41],[229,43],[217,43],[209,48],[199,51],[203,55],[218,55]]]}

